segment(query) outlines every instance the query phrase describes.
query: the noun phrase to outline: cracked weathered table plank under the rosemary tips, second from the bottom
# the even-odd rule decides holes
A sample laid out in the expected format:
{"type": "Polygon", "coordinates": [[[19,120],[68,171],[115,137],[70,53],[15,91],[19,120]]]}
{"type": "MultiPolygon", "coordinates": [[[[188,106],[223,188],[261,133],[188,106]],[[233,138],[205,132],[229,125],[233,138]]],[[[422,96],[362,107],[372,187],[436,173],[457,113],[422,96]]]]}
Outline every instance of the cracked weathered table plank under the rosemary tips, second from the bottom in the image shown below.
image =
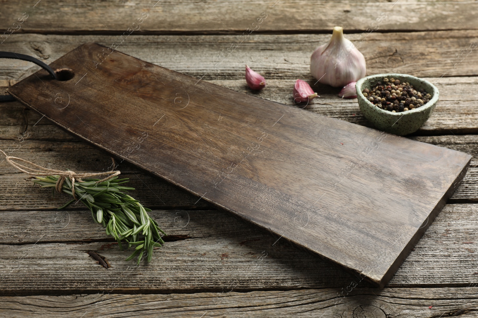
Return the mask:
{"type": "MultiPolygon", "coordinates": [[[[135,263],[124,261],[128,252],[120,251],[117,244],[89,243],[107,238],[89,212],[3,212],[2,293],[38,295],[53,289],[61,294],[91,293],[111,287],[117,293],[169,293],[230,287],[250,291],[368,286],[361,277],[228,213],[154,211],[152,216],[175,241],[156,249],[149,265],[132,268],[135,263]],[[61,240],[77,243],[44,243],[61,240]],[[112,267],[96,264],[88,250],[105,256],[112,267]]],[[[477,221],[476,205],[446,205],[389,287],[478,284],[477,221]]]]}

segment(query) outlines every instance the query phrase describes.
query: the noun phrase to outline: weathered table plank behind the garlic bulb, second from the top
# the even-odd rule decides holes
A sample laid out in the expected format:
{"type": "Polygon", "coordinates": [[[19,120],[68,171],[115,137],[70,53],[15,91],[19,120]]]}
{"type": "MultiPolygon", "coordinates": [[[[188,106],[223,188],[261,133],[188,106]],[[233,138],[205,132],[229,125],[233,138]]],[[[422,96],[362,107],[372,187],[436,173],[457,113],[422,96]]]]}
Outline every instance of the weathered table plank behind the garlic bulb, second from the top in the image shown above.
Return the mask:
{"type": "MultiPolygon", "coordinates": [[[[456,58],[461,50],[469,51],[470,43],[476,41],[474,31],[372,32],[364,41],[360,40],[359,33],[348,34],[347,37],[364,54],[367,74],[398,72],[421,77],[478,75],[478,55],[474,51],[463,53],[460,60],[456,58]]],[[[118,51],[198,79],[203,75],[203,80],[243,79],[247,63],[266,79],[295,81],[301,78],[312,82],[310,56],[329,38],[330,34],[250,34],[228,56],[228,47],[237,41],[233,35],[132,35],[119,44],[117,36],[108,35],[14,33],[2,44],[2,50],[33,55],[51,63],[85,42],[98,42],[107,47],[117,43],[118,51]],[[223,53],[221,50],[225,52],[224,59],[218,57],[223,53]]],[[[33,66],[26,62],[0,60],[0,80],[19,80],[31,75],[30,68],[33,70],[33,66]]],[[[38,68],[34,67],[35,70],[38,68]]],[[[317,86],[319,93],[322,93],[321,87],[317,86]]]]}

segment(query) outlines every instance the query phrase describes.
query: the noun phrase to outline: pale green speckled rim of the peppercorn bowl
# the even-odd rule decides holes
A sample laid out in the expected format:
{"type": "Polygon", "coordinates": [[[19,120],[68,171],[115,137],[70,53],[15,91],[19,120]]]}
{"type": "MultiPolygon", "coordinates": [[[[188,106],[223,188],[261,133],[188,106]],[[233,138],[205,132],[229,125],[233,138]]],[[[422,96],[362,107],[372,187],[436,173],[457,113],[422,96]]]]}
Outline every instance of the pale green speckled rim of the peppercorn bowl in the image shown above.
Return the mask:
{"type": "Polygon", "coordinates": [[[405,114],[424,112],[428,108],[435,105],[436,102],[438,102],[438,97],[439,97],[438,88],[436,88],[436,86],[434,84],[432,84],[431,82],[428,82],[427,80],[418,78],[418,77],[410,75],[410,74],[401,74],[401,73],[383,73],[383,74],[374,74],[374,75],[369,75],[369,76],[366,76],[366,77],[362,77],[361,79],[359,79],[357,81],[357,83],[355,83],[355,89],[357,90],[357,98],[360,98],[360,99],[364,100],[369,107],[376,108],[379,111],[379,113],[386,114],[386,115],[392,115],[392,116],[403,116],[405,114]],[[365,98],[365,96],[362,93],[362,85],[363,85],[363,82],[365,82],[368,79],[384,78],[384,77],[403,77],[403,78],[409,78],[409,79],[413,79],[413,80],[426,82],[433,89],[433,92],[431,93],[433,97],[432,97],[431,100],[428,101],[428,103],[424,104],[423,106],[418,107],[418,108],[414,108],[414,109],[409,109],[408,111],[393,113],[393,112],[390,112],[390,111],[383,110],[383,109],[375,106],[374,104],[370,103],[369,99],[365,98]]]}

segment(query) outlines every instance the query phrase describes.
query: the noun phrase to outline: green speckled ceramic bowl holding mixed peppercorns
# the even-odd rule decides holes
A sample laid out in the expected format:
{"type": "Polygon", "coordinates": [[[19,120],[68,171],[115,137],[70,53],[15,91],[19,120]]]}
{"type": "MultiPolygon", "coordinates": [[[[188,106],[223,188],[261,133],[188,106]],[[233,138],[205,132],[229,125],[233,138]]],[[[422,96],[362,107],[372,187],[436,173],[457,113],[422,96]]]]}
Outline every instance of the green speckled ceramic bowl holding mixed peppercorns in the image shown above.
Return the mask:
{"type": "Polygon", "coordinates": [[[357,89],[360,111],[365,118],[372,122],[377,129],[399,136],[416,132],[430,117],[430,114],[435,109],[436,102],[438,102],[438,89],[435,85],[407,74],[377,74],[367,76],[360,79],[355,84],[355,88],[357,89]],[[380,109],[370,103],[362,94],[362,91],[366,88],[370,89],[372,85],[385,77],[393,77],[394,79],[400,80],[400,82],[409,82],[415,89],[424,89],[425,92],[432,95],[432,98],[423,106],[405,112],[392,113],[380,109]]]}

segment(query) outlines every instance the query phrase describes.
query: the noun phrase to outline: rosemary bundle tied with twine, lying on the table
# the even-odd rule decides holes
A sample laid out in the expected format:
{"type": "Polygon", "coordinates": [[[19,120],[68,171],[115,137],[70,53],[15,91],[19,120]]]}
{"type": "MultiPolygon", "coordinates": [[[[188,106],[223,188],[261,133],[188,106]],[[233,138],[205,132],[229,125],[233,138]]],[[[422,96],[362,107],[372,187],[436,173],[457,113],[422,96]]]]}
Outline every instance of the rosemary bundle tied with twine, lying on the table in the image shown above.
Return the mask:
{"type": "Polygon", "coordinates": [[[122,185],[129,179],[118,179],[120,171],[77,174],[71,170],[45,168],[31,161],[9,156],[1,149],[0,152],[5,155],[5,160],[9,164],[31,175],[30,179],[42,188],[52,188],[53,191],[56,189],[58,192],[73,196],[72,200],[58,209],[63,209],[75,201],[81,201],[90,209],[93,220],[106,227],[106,234],[114,236],[121,250],[123,250],[122,241],[128,243],[128,248],[135,246],[135,251],[126,258],[127,261],[138,256],[139,265],[146,253],[146,260],[150,262],[153,248],[164,244],[161,234],[166,235],[166,233],[148,215],[148,212],[151,212],[150,209],[125,193],[134,188],[122,185]],[[103,179],[94,179],[94,177],[105,175],[108,176],[103,179]]]}

